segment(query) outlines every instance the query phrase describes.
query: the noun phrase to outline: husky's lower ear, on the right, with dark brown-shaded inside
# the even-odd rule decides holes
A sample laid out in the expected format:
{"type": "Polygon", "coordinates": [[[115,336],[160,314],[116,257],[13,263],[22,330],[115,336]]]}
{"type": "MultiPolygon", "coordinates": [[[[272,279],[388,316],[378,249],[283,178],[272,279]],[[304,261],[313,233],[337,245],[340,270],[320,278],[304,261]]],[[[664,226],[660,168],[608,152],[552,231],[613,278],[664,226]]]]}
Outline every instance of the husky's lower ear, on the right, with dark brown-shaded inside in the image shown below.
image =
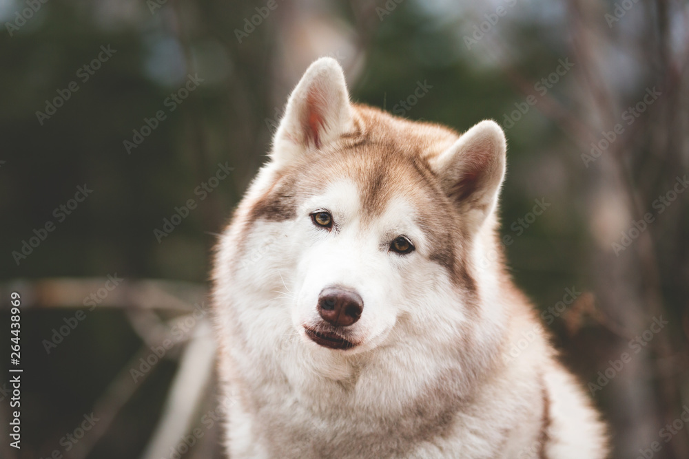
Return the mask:
{"type": "Polygon", "coordinates": [[[491,214],[505,175],[507,142],[494,121],[466,131],[433,161],[445,193],[460,208],[470,232],[491,214]]]}

